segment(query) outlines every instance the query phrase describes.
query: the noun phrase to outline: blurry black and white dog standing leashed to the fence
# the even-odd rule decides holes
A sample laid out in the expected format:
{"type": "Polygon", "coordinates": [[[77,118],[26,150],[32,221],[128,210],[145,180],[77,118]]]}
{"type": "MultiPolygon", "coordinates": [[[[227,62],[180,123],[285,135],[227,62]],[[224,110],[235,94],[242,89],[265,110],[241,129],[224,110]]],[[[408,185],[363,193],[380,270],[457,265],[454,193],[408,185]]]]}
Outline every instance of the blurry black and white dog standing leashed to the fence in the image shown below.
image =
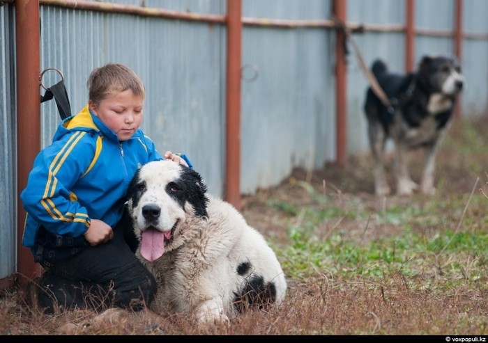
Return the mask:
{"type": "Polygon", "coordinates": [[[424,56],[416,72],[404,75],[390,72],[383,61],[376,60],[372,72],[392,103],[387,108],[372,88],[368,88],[364,109],[376,165],[375,193],[390,193],[383,164],[388,138],[395,144],[397,194],[408,196],[417,190],[435,193],[436,152],[452,121],[457,95],[464,86],[459,61],[451,56],[424,56]],[[420,189],[411,180],[408,169],[407,154],[414,148],[425,149],[420,189]]]}

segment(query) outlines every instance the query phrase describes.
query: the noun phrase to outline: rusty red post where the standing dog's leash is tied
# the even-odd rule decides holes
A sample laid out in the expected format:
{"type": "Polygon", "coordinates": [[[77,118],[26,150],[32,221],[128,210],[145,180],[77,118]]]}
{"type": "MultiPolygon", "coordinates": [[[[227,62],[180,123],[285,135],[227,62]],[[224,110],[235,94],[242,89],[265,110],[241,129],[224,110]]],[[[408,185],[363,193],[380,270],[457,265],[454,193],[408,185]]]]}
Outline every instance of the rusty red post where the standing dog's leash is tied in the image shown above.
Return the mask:
{"type": "MultiPolygon", "coordinates": [[[[341,22],[346,22],[346,4],[344,0],[334,0],[333,14],[341,22]]],[[[336,145],[337,164],[346,165],[347,160],[347,102],[346,102],[346,35],[337,30],[335,35],[335,109],[336,109],[336,145]]]]}

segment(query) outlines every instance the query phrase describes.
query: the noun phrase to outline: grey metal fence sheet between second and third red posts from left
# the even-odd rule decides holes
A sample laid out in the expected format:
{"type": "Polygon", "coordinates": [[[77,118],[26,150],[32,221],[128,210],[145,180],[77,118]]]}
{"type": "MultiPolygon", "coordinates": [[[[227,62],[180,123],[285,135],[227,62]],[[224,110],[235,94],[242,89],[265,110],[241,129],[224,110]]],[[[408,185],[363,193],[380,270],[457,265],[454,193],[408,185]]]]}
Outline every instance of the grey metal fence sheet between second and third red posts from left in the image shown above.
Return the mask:
{"type": "MultiPolygon", "coordinates": [[[[329,16],[330,1],[243,1],[243,17],[329,16]]],[[[241,193],[335,158],[332,37],[326,29],[243,28],[241,193]]]]}

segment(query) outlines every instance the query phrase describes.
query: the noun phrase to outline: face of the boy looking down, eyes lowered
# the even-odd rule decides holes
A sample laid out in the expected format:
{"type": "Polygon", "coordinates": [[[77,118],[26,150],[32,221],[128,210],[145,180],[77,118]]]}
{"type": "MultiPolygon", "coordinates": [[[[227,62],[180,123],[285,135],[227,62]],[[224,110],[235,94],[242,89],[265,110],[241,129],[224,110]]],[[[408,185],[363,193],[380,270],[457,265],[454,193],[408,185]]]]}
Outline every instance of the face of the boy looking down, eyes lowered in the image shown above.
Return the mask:
{"type": "Polygon", "coordinates": [[[119,141],[127,141],[134,136],[142,123],[144,97],[134,95],[132,90],[109,95],[98,106],[89,102],[90,109],[112,131],[119,141]]]}

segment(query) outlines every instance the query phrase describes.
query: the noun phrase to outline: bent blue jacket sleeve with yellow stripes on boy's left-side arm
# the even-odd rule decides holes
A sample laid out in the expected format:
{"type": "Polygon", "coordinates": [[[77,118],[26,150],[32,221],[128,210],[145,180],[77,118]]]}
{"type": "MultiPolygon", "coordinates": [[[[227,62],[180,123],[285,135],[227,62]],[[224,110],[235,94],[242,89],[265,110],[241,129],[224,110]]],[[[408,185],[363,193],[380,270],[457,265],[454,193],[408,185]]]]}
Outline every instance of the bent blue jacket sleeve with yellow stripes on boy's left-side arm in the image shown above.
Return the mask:
{"type": "Polygon", "coordinates": [[[93,159],[93,141],[89,133],[73,132],[45,147],[34,160],[20,198],[29,216],[49,232],[79,237],[90,226],[86,208],[70,189],[93,159]]]}

